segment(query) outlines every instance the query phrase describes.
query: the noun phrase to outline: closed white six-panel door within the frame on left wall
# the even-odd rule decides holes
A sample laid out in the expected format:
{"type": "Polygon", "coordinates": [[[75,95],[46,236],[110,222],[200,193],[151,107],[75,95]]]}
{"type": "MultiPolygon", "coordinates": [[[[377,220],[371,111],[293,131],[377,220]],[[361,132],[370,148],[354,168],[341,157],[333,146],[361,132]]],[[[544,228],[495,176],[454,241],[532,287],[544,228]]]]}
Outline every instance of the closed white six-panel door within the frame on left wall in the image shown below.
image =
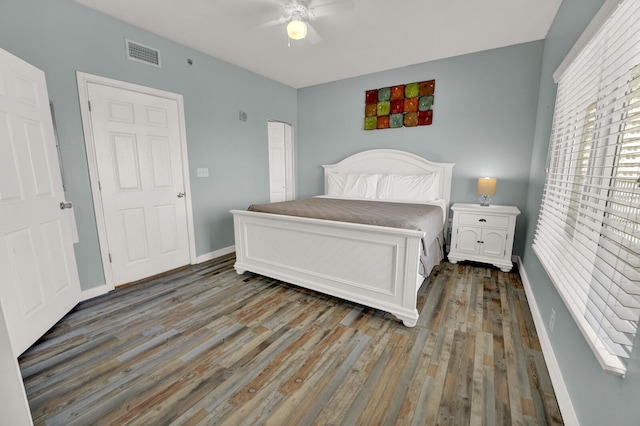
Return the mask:
{"type": "Polygon", "coordinates": [[[178,103],[95,83],[88,96],[114,285],[189,264],[178,103]]]}

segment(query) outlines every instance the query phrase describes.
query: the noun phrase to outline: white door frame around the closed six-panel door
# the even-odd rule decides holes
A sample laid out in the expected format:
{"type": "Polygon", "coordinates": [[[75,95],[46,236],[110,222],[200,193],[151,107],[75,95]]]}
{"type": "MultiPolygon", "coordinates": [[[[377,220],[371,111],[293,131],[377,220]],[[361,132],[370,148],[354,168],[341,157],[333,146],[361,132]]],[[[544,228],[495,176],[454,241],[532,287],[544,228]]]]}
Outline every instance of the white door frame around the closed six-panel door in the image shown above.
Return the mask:
{"type": "Polygon", "coordinates": [[[93,197],[93,208],[95,211],[96,225],[98,228],[98,242],[100,245],[100,256],[102,258],[102,267],[104,270],[105,284],[107,291],[115,288],[113,272],[111,270],[111,262],[109,260],[109,245],[107,240],[107,226],[104,218],[104,210],[102,205],[102,196],[99,189],[98,178],[98,161],[96,159],[95,140],[93,138],[93,128],[91,125],[91,112],[89,110],[89,83],[109,86],[116,89],[123,89],[132,92],[143,93],[145,95],[157,96],[161,98],[171,99],[178,104],[178,121],[180,126],[180,151],[182,153],[182,179],[184,180],[184,189],[187,193],[185,200],[187,215],[187,236],[189,238],[189,262],[193,265],[196,263],[196,244],[195,231],[193,224],[193,207],[191,204],[191,184],[189,180],[189,160],[187,156],[187,132],[185,128],[184,117],[184,99],[182,95],[164,90],[154,89],[152,87],[141,86],[138,84],[127,83],[124,81],[114,80],[107,77],[88,74],[76,71],[76,79],[78,83],[78,98],[80,100],[80,115],[82,117],[82,131],[84,133],[85,147],[87,149],[87,162],[89,164],[89,180],[91,183],[91,195],[93,197]]]}

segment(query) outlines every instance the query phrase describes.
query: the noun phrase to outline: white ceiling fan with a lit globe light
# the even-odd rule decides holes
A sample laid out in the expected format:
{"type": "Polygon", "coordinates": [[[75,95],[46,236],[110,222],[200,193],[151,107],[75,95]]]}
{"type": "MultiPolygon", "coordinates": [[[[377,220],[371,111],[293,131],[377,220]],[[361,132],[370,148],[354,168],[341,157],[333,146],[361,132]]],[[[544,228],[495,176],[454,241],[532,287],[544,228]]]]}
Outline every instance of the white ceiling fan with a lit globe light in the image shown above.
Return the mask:
{"type": "Polygon", "coordinates": [[[317,0],[286,0],[282,3],[284,14],[279,19],[268,22],[265,26],[286,23],[289,40],[307,40],[312,44],[316,44],[321,41],[321,38],[310,21],[315,21],[319,17],[333,13],[332,9],[336,9],[336,6],[345,6],[344,3],[350,3],[351,7],[353,7],[351,0],[333,1],[317,6],[315,6],[315,3],[317,3],[317,0]],[[311,7],[312,2],[314,7],[311,7]]]}

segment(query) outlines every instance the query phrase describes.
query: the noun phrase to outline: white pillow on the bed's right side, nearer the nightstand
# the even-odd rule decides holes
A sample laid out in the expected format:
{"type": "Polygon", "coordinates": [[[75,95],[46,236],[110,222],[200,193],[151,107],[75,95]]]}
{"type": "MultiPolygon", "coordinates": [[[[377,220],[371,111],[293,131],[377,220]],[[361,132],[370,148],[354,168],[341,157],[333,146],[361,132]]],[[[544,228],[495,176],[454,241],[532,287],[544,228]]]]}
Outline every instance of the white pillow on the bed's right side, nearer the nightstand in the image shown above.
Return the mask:
{"type": "Polygon", "coordinates": [[[440,174],[381,175],[377,198],[424,202],[440,198],[440,174]]]}

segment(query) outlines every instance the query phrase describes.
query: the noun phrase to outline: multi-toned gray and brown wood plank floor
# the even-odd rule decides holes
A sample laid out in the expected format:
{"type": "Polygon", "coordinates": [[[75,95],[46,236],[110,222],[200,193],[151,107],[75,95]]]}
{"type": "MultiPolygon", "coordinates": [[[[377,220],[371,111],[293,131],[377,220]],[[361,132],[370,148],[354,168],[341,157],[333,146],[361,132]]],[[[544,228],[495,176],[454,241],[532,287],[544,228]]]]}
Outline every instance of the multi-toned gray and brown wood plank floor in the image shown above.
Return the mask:
{"type": "Polygon", "coordinates": [[[81,303],[20,357],[35,424],[562,424],[517,273],[442,263],[415,328],[226,256],[81,303]]]}

